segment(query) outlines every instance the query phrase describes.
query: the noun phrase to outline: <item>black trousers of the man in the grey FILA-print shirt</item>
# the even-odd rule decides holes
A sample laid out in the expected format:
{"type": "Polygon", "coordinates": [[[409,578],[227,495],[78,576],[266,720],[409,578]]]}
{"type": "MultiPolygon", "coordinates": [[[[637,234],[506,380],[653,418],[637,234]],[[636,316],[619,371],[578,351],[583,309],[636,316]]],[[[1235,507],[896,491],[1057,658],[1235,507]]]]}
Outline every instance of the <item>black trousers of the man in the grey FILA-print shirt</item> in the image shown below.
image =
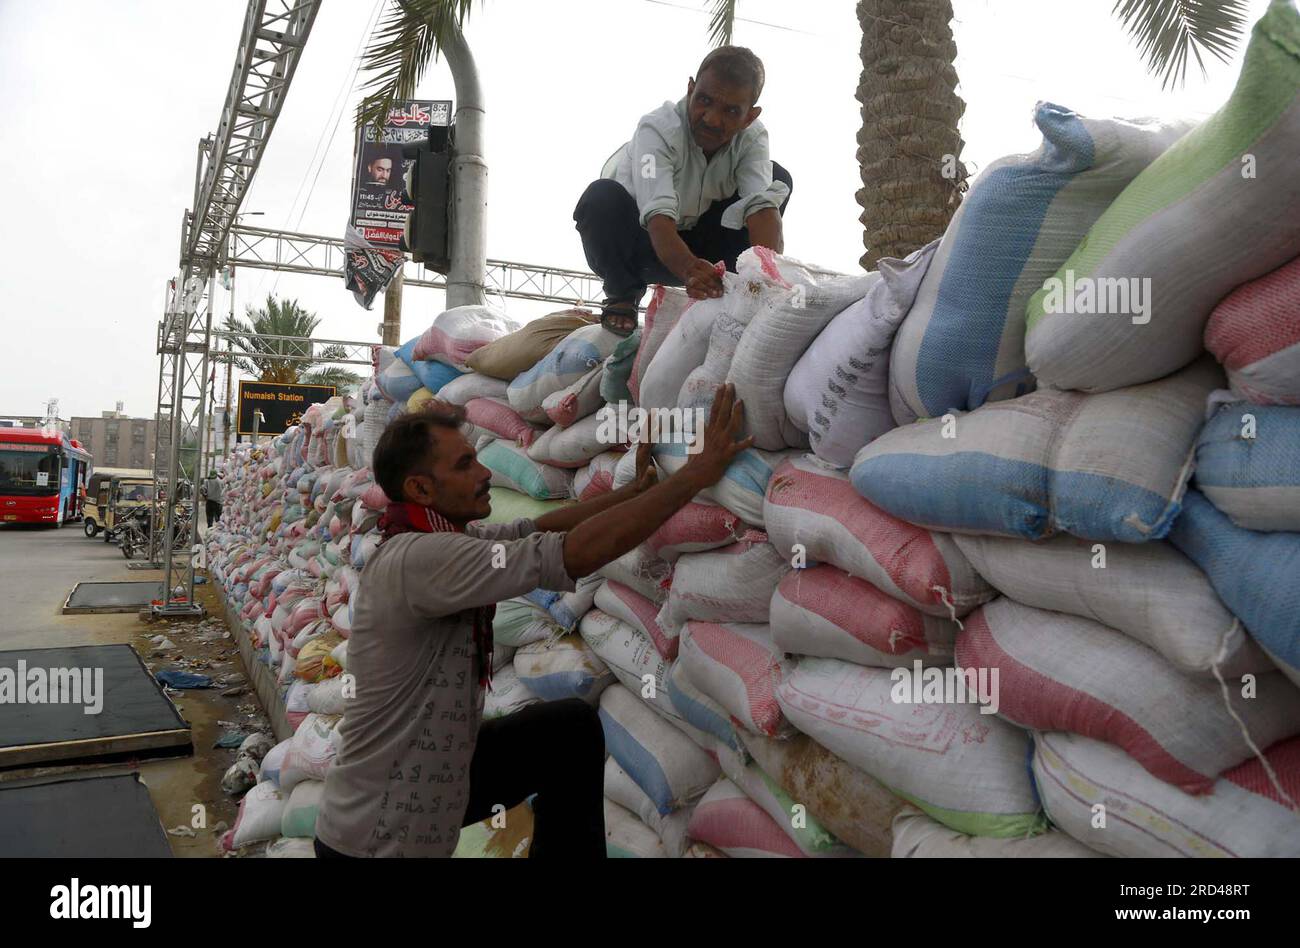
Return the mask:
{"type": "MultiPolygon", "coordinates": [[[[604,730],[581,698],[530,705],[482,723],[462,826],[494,815],[497,804],[508,810],[534,793],[528,858],[604,858],[604,730]]],[[[316,856],[347,858],[320,840],[316,856]]]]}

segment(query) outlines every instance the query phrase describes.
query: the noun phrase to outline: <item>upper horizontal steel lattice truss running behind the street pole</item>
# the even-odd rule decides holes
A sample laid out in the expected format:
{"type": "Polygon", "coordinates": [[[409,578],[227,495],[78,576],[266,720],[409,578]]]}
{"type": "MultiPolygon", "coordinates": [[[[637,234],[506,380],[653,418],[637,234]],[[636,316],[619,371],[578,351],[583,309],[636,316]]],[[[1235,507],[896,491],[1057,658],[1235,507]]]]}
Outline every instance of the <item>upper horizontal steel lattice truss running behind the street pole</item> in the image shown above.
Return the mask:
{"type": "MultiPolygon", "coordinates": [[[[238,224],[230,229],[228,259],[235,267],[343,278],[343,241],[334,237],[238,224]]],[[[413,263],[407,264],[407,286],[447,289],[446,277],[441,273],[413,263]]],[[[547,303],[592,303],[603,296],[601,278],[594,273],[510,260],[488,261],[488,283],[503,296],[547,303]]]]}

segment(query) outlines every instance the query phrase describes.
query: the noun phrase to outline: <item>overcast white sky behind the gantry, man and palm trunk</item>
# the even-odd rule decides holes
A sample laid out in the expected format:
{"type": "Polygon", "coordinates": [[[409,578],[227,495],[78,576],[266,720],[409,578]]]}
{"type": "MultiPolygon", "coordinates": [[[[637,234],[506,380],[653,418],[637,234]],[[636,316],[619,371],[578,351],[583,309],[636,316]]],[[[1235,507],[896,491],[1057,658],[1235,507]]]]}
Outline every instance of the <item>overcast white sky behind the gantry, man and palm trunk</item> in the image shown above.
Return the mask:
{"type": "MultiPolygon", "coordinates": [[[[1251,22],[1266,8],[1252,0],[1251,22]]],[[[240,0],[0,0],[0,416],[60,416],[126,403],[150,416],[155,334],[176,276],[196,144],[216,129],[246,4],[240,0]]],[[[1088,116],[1210,114],[1240,69],[1192,68],[1162,92],[1110,0],[954,0],[966,100],[963,160],[978,172],[1032,151],[1031,111],[1088,116]]],[[[350,114],[359,46],[376,0],[326,0],[266,148],[247,224],[341,237],[348,213],[350,114]],[[341,112],[342,121],[337,121],[341,112]],[[309,200],[307,195],[309,192],[309,200]],[[296,199],[296,200],[295,200],[296,199]]],[[[794,178],[785,247],[850,270],[862,254],[854,191],[861,127],[853,94],[861,31],[850,0],[740,0],[736,42],[767,68],[762,121],[794,178]],[[750,22],[757,21],[757,22],[750,22]]],[[[488,254],[586,269],[572,209],[637,118],[685,92],[707,52],[703,0],[486,0],[467,36],[488,101],[488,254]]],[[[434,65],[417,95],[451,99],[434,65]]],[[[361,309],[342,281],[243,270],[234,304],[296,298],[325,338],[378,341],[382,299],[361,309]]],[[[218,289],[218,312],[229,308],[218,289]]],[[[520,320],[555,307],[504,303],[520,320]]],[[[442,308],[408,289],[403,338],[442,308]]]]}

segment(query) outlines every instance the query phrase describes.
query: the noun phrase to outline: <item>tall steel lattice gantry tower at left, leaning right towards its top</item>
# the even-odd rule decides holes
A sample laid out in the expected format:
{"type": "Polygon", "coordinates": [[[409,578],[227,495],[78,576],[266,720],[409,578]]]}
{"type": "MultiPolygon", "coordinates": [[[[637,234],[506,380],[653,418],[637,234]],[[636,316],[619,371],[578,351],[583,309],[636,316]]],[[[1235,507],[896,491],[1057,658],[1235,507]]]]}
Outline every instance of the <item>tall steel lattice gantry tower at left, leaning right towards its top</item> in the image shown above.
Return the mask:
{"type": "MultiPolygon", "coordinates": [[[[199,143],[194,209],[186,212],[181,228],[181,273],[172,285],[157,339],[157,417],[160,432],[166,427],[168,436],[165,443],[161,437],[156,441],[153,455],[153,494],[166,494],[155,521],[161,521],[162,529],[151,533],[150,560],[157,563],[161,555],[164,570],[162,602],[153,607],[155,615],[203,611],[194,601],[191,555],[198,511],[190,518],[188,537],[181,541],[185,558],[179,567],[173,559],[173,534],[183,442],[194,438],[196,463],[203,450],[214,274],[225,263],[230,226],[276,127],[318,9],[320,0],[248,0],[221,122],[199,143]]],[[[157,506],[155,499],[155,510],[157,506]]]]}

